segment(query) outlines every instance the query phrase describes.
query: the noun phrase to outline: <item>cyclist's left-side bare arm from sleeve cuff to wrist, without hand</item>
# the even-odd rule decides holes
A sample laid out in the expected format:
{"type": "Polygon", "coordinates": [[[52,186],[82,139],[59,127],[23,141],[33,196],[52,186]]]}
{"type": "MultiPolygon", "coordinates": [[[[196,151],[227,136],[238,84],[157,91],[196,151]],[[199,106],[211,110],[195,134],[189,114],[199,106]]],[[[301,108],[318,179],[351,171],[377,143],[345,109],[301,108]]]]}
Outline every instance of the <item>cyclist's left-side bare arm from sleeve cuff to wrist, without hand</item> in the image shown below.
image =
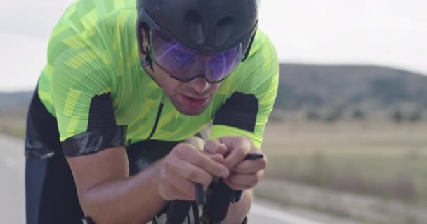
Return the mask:
{"type": "Polygon", "coordinates": [[[157,191],[162,160],[130,177],[124,147],[67,160],[81,207],[96,223],[148,223],[166,204],[157,191]]]}

